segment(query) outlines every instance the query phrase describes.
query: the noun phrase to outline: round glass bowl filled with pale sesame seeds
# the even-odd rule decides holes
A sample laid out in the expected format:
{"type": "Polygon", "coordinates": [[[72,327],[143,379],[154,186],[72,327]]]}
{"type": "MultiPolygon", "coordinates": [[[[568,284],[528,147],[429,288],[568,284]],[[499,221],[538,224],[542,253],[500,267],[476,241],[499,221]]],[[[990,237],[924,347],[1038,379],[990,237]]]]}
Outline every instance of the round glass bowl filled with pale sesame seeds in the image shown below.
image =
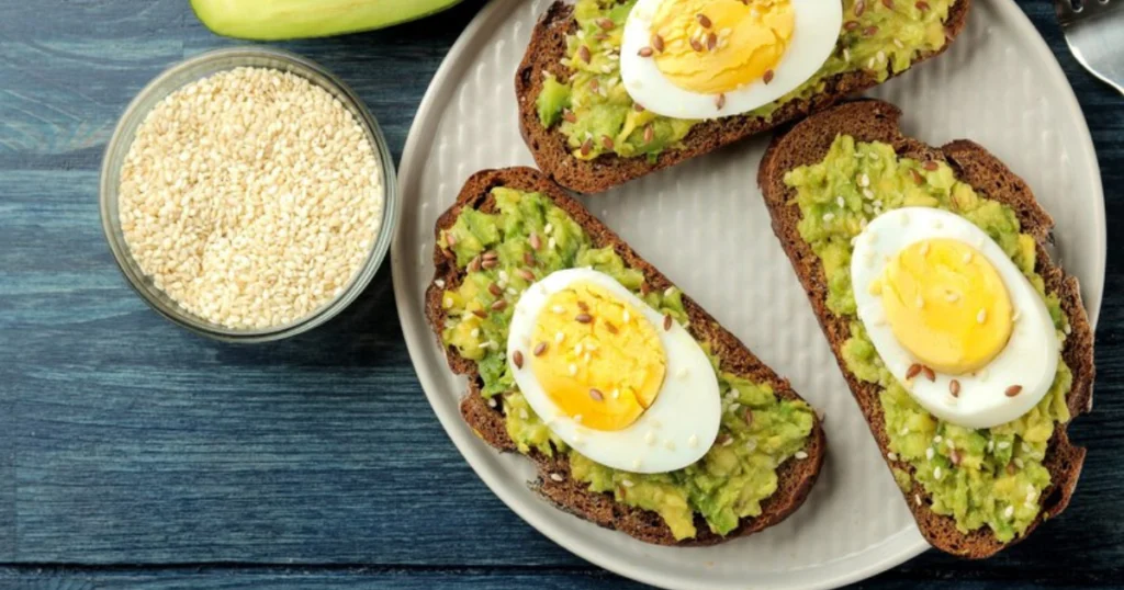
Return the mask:
{"type": "Polygon", "coordinates": [[[275,341],[337,315],[382,264],[397,219],[374,117],[329,72],[272,48],[163,72],[102,162],[121,273],[162,316],[220,341],[275,341]]]}

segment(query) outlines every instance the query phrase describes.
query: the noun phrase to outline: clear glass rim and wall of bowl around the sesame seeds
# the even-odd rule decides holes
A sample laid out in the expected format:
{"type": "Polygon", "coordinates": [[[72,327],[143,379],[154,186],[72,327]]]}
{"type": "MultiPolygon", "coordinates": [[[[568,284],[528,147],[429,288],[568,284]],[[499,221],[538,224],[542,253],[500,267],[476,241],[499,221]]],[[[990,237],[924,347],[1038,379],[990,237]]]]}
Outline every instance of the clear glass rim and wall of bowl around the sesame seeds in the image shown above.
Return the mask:
{"type": "Polygon", "coordinates": [[[387,256],[398,225],[398,191],[395,182],[395,164],[387,142],[374,117],[366,110],[355,92],[339,79],[293,53],[265,47],[243,47],[218,49],[183,61],[161,73],[140,91],[121,116],[114,136],[106,148],[101,165],[101,225],[109,240],[118,267],[129,285],[149,307],[172,323],[196,334],[224,342],[259,343],[271,342],[308,332],[343,311],[371,282],[387,256]],[[343,291],[297,320],[264,329],[235,329],[208,321],[180,307],[171,297],[155,287],[152,279],[142,272],[133,258],[125,235],[121,232],[118,211],[118,188],[120,170],[128,154],[137,127],[161,100],[196,80],[235,67],[271,67],[291,72],[325,89],[355,116],[366,131],[368,140],[381,163],[383,208],[379,235],[372,242],[371,251],[360,270],[343,291]]]}

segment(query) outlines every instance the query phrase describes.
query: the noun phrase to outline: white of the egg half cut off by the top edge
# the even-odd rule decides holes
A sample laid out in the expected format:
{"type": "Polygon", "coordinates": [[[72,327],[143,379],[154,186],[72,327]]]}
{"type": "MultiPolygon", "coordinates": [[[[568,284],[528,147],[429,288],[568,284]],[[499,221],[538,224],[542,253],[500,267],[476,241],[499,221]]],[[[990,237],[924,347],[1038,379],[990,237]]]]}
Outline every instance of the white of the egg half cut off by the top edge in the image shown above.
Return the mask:
{"type": "Polygon", "coordinates": [[[677,87],[664,78],[652,57],[640,51],[652,43],[652,19],[663,0],[640,0],[625,20],[620,44],[620,79],[625,90],[645,109],[677,119],[713,119],[751,111],[796,90],[824,65],[835,51],[843,26],[840,0],[792,0],[796,27],[792,40],[768,84],[755,81],[725,92],[718,109],[716,94],[677,87]]]}

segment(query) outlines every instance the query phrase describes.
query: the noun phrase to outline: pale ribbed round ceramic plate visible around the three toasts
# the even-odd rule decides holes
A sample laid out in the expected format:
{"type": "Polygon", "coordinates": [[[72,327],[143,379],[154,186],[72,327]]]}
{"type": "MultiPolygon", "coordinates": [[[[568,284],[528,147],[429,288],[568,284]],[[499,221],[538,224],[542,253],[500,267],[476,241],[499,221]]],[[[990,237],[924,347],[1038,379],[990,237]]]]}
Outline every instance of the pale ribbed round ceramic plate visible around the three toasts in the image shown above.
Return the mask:
{"type": "MultiPolygon", "coordinates": [[[[430,84],[402,155],[395,294],[414,366],[456,447],[544,535],[602,568],[665,588],[830,588],[925,551],[770,229],[755,182],[767,137],[583,201],[826,412],[831,451],[800,510],[716,547],[645,545],[549,506],[525,484],[533,476],[527,461],[497,454],[462,423],[464,381],[448,371],[423,312],[433,226],[473,172],[533,165],[519,138],[513,80],[547,6],[495,0],[480,12],[430,84]]],[[[909,135],[933,145],[972,138],[1030,182],[1057,220],[1062,264],[1081,280],[1096,321],[1105,214],[1088,127],[1057,61],[1014,2],[976,1],[972,12],[948,54],[873,96],[905,110],[909,135]]],[[[1037,534],[1049,535],[1050,526],[1037,534]]]]}

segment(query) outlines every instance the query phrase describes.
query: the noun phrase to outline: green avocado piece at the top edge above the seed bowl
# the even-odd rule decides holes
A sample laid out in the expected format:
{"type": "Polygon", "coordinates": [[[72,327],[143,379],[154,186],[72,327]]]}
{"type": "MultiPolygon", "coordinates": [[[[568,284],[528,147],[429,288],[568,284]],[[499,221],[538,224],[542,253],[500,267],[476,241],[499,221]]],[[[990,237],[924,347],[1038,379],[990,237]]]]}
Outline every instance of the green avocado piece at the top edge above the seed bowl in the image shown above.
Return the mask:
{"type": "Polygon", "coordinates": [[[330,37],[439,12],[460,0],[191,0],[216,35],[253,40],[330,37]]]}

